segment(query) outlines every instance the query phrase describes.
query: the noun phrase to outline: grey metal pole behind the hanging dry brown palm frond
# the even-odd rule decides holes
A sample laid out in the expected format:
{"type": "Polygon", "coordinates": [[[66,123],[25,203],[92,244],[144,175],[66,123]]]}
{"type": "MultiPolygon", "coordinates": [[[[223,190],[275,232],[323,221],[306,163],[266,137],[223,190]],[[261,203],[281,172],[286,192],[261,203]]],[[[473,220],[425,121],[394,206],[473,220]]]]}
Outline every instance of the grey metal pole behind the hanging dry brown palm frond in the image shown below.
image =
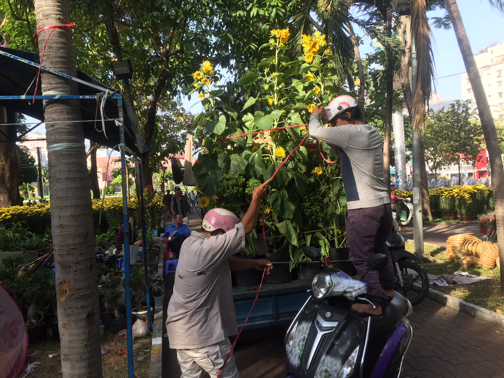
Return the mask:
{"type": "MultiPolygon", "coordinates": [[[[416,57],[415,35],[411,36],[411,76],[412,92],[415,98],[416,80],[418,73],[418,62],[416,57]]],[[[413,117],[411,117],[413,119],[413,117]]],[[[415,244],[415,255],[423,256],[423,216],[422,216],[422,139],[420,131],[413,129],[413,240],[415,244]]]]}

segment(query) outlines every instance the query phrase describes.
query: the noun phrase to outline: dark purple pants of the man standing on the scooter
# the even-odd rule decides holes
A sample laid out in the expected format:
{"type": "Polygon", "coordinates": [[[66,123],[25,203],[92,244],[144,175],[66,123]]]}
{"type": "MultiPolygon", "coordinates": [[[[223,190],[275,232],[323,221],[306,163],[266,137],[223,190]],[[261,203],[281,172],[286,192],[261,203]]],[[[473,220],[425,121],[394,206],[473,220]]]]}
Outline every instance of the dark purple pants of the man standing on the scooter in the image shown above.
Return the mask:
{"type": "MultiPolygon", "coordinates": [[[[392,209],[390,204],[364,209],[348,210],[346,215],[347,243],[350,249],[350,261],[362,277],[367,271],[367,259],[374,254],[386,254],[389,262],[379,271],[369,271],[364,281],[369,288],[381,293],[380,284],[385,290],[393,290],[396,276],[387,238],[392,231],[392,209]]],[[[373,302],[375,302],[373,300],[373,302]]],[[[380,303],[375,302],[376,305],[380,303]]]]}

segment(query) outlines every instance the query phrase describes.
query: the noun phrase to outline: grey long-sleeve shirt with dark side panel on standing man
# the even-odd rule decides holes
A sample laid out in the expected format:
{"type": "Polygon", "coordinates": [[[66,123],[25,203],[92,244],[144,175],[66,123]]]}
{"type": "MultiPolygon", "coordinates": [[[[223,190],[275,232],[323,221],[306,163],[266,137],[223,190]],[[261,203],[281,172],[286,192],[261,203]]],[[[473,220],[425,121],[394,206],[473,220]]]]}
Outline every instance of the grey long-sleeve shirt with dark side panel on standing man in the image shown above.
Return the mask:
{"type": "Polygon", "coordinates": [[[308,132],[313,138],[338,148],[349,210],[390,203],[379,131],[368,124],[325,128],[319,114],[313,113],[308,132]]]}

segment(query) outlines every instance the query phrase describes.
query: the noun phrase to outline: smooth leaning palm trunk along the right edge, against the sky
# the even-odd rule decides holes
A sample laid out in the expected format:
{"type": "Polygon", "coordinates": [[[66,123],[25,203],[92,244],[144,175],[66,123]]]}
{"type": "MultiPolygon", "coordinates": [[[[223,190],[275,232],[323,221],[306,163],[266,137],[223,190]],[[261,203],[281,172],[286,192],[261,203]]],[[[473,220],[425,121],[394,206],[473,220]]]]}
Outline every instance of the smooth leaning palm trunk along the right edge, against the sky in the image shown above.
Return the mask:
{"type": "MultiPolygon", "coordinates": [[[[486,98],[481,78],[479,77],[478,67],[474,59],[469,38],[460,16],[459,7],[455,0],[445,0],[446,9],[450,15],[460,52],[464,59],[469,82],[478,106],[481,128],[485,136],[490,166],[492,167],[492,187],[493,197],[495,199],[495,211],[497,213],[497,241],[499,246],[500,266],[504,266],[504,169],[500,157],[500,146],[497,138],[497,131],[493,122],[492,113],[488,100],[486,98]]],[[[504,269],[500,269],[500,294],[504,295],[504,269]]]]}

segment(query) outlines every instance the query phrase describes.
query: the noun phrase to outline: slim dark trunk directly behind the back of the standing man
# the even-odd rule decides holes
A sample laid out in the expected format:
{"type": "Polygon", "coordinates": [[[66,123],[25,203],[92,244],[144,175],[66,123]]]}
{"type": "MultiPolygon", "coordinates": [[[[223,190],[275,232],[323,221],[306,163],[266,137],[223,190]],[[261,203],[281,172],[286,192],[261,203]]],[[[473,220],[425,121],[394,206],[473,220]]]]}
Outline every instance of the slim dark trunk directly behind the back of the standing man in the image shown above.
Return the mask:
{"type": "MultiPolygon", "coordinates": [[[[387,10],[387,34],[392,35],[392,8],[387,10]]],[[[389,49],[387,53],[390,54],[389,49]]],[[[390,55],[387,59],[390,62],[390,55]]],[[[387,77],[387,103],[385,107],[385,130],[383,138],[383,173],[385,182],[390,192],[390,141],[392,139],[392,107],[394,96],[394,69],[392,67],[385,68],[385,75],[387,77]]]]}

